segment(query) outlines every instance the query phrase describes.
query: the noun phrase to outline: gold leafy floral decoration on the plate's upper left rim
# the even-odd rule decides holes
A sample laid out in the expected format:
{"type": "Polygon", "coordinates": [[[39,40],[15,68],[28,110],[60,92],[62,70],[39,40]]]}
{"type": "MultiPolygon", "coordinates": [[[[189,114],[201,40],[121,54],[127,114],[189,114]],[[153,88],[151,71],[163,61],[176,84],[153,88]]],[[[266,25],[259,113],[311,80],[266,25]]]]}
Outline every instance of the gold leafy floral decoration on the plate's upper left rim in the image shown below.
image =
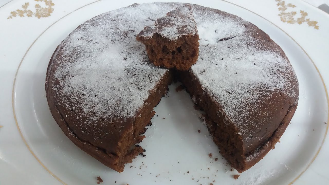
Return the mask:
{"type": "Polygon", "coordinates": [[[17,9],[16,11],[10,12],[10,16],[7,19],[12,19],[13,17],[49,17],[51,13],[53,13],[54,9],[53,6],[55,5],[52,0],[34,0],[37,2],[44,2],[46,7],[42,7],[39,4],[36,4],[34,7],[36,8],[35,12],[32,12],[32,10],[28,9],[30,4],[27,2],[24,5],[22,5],[22,10],[17,9]]]}

